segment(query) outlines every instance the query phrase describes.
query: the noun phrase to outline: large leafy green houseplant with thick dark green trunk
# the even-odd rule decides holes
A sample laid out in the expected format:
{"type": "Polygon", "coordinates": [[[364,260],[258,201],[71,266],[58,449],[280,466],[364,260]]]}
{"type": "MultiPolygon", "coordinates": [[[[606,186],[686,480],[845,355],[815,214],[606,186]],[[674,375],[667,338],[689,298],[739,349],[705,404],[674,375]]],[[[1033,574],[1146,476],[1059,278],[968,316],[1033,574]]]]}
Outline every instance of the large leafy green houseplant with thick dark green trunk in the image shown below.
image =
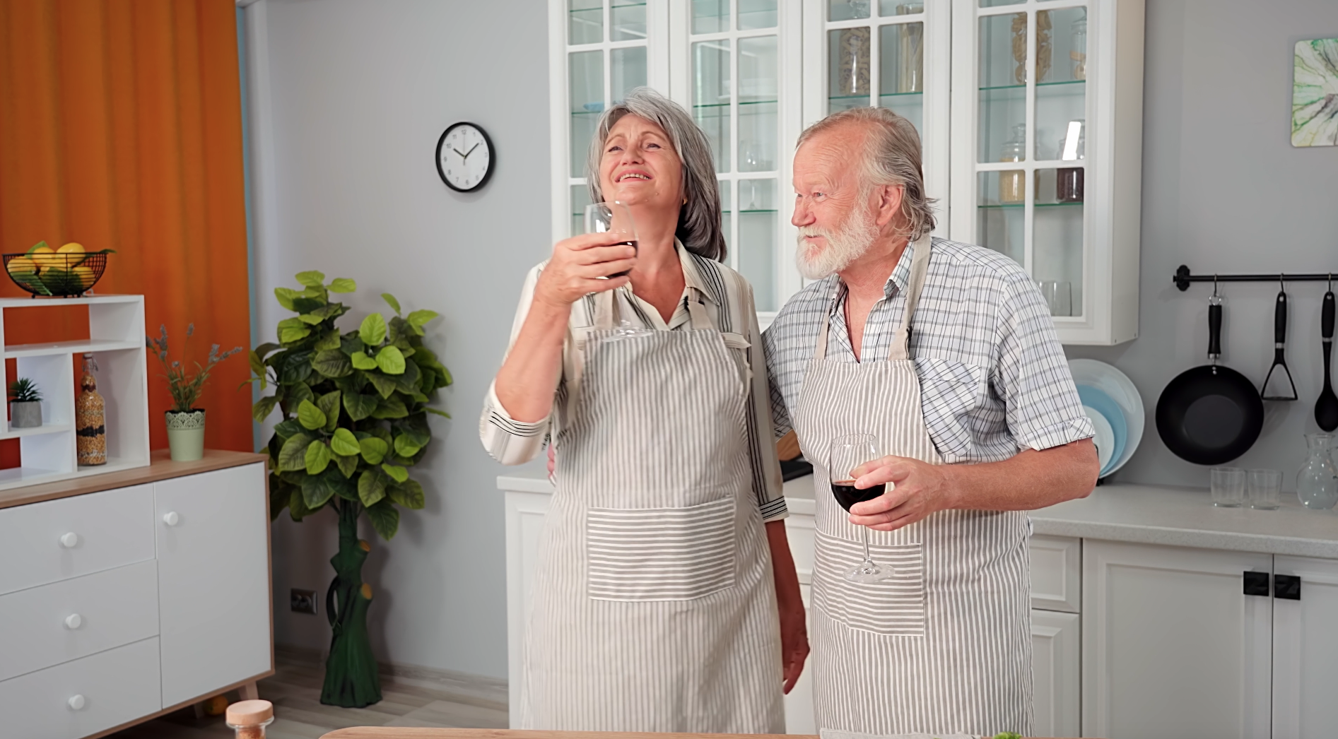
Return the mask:
{"type": "Polygon", "coordinates": [[[325,663],[321,703],[363,707],[381,699],[376,659],[367,633],[372,589],[363,583],[371,544],[357,539],[357,520],[367,514],[383,539],[399,529],[399,508],[424,505],[423,485],[409,468],[427,452],[432,432],[427,414],[451,373],[423,346],[431,310],[401,315],[393,295],[381,297],[395,310],[380,313],[352,331],[336,322],[348,313],[330,302],[332,293],[352,293],[352,279],[329,285],[318,271],[297,275],[301,290],[278,287],[274,297],[293,318],[278,322],[278,343],[250,354],[250,382],[274,393],[256,402],[264,421],[278,406],[284,420],[269,440],[270,517],[286,508],[294,521],[333,508],[339,516],[339,552],[330,557],[334,579],[325,593],[333,629],[325,663]]]}

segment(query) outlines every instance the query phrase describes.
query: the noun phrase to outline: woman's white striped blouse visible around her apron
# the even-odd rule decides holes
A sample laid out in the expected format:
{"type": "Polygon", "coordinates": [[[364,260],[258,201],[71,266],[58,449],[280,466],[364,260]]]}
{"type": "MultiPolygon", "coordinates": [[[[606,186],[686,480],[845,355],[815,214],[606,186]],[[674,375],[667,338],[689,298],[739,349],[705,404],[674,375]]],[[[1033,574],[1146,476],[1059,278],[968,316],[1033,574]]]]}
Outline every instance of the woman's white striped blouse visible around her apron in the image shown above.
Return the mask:
{"type": "MultiPolygon", "coordinates": [[[[780,464],[776,461],[776,448],[772,444],[771,421],[771,392],[767,385],[767,359],[763,349],[761,330],[757,326],[757,313],[753,307],[752,286],[748,285],[739,273],[716,262],[698,257],[681,243],[674,242],[678,250],[678,259],[682,265],[682,277],[686,286],[682,298],[674,309],[674,314],[668,322],[661,318],[660,311],[646,301],[632,293],[630,287],[619,287],[614,291],[617,303],[615,315],[626,318],[630,323],[654,329],[660,331],[690,330],[692,319],[688,313],[688,301],[696,301],[705,307],[706,317],[721,331],[741,334],[748,339],[748,365],[752,370],[752,385],[748,393],[747,433],[749,436],[748,448],[752,454],[749,468],[753,472],[752,490],[757,498],[757,508],[761,510],[764,521],[784,519],[785,497],[781,493],[780,464]]],[[[515,311],[515,321],[511,323],[511,343],[515,342],[524,317],[530,311],[534,299],[534,286],[539,279],[539,273],[547,262],[530,270],[524,278],[524,287],[520,290],[520,305],[515,311]]],[[[594,325],[594,298],[586,295],[571,306],[569,327],[581,329],[594,325]]],[[[559,398],[579,398],[571,386],[573,378],[579,377],[575,372],[578,362],[583,362],[582,350],[577,349],[571,339],[571,331],[562,347],[562,377],[558,388],[554,389],[554,402],[559,398]]],[[[510,351],[510,345],[508,349],[510,351]]],[[[579,402],[569,400],[567,402],[579,402]]],[[[570,410],[566,413],[570,417],[570,410]]],[[[494,386],[488,386],[488,394],[483,402],[483,416],[479,418],[479,438],[484,449],[496,461],[504,465],[524,464],[539,454],[550,434],[554,416],[550,414],[535,422],[523,422],[511,418],[498,401],[494,386]]],[[[558,450],[561,454],[561,449],[558,450]]]]}

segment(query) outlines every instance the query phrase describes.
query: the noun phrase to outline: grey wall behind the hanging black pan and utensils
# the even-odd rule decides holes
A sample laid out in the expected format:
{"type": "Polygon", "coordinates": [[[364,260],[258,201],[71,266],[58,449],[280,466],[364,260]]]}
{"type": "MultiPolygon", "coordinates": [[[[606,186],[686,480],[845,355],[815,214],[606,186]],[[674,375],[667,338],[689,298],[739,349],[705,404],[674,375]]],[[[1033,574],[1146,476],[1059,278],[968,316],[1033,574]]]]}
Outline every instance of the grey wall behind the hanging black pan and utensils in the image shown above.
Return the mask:
{"type": "MultiPolygon", "coordinates": [[[[1139,338],[1068,347],[1119,366],[1139,386],[1148,426],[1116,480],[1207,486],[1207,468],[1175,457],[1152,422],[1161,389],[1207,362],[1211,285],[1199,274],[1338,271],[1338,147],[1293,148],[1293,44],[1338,36],[1333,0],[1148,0],[1143,92],[1143,254],[1139,338]]],[[[1223,361],[1263,382],[1272,361],[1278,283],[1226,283],[1223,361]]],[[[1305,461],[1321,386],[1323,283],[1287,287],[1287,363],[1301,401],[1264,402],[1263,434],[1232,462],[1286,473],[1305,461]]]]}

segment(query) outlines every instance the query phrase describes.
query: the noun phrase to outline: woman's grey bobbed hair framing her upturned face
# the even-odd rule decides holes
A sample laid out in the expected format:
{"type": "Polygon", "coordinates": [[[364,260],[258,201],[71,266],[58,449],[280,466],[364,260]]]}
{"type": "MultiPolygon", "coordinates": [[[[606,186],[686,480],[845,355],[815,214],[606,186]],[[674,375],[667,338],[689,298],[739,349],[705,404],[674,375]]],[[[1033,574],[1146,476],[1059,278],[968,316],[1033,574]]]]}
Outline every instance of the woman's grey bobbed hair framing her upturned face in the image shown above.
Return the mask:
{"type": "Polygon", "coordinates": [[[684,247],[708,259],[725,261],[725,234],[720,230],[720,190],[716,186],[716,163],[710,156],[710,142],[693,123],[688,111],[649,87],[638,87],[628,98],[599,116],[599,124],[590,139],[586,159],[586,182],[590,202],[599,203],[599,160],[609,130],[625,115],[641,116],[664,128],[669,143],[682,162],[682,192],[688,203],[678,210],[674,235],[684,247]]]}

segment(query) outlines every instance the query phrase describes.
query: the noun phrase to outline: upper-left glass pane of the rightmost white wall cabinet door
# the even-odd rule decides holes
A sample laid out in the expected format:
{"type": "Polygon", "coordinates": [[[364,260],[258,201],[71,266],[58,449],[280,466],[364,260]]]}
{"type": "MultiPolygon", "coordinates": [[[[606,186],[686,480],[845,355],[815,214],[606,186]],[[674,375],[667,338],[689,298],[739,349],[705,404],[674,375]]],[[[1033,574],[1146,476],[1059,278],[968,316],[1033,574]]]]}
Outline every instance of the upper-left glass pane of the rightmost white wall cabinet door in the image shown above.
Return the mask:
{"type": "Polygon", "coordinates": [[[981,19],[979,61],[977,159],[1021,162],[1026,158],[1026,13],[981,19]]]}

